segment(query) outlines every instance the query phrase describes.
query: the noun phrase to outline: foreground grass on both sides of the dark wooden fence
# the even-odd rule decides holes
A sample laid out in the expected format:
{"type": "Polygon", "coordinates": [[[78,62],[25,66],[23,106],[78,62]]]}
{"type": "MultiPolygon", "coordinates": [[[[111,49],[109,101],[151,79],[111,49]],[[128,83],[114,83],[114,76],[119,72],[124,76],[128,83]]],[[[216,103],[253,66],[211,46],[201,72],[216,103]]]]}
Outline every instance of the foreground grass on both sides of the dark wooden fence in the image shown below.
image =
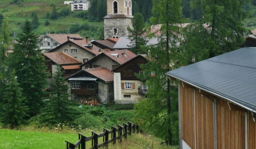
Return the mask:
{"type": "MultiPolygon", "coordinates": [[[[65,140],[75,143],[78,135],[75,131],[62,130],[54,131],[48,129],[35,129],[29,127],[21,130],[0,129],[0,149],[64,149],[65,140]]],[[[90,136],[90,130],[82,131],[86,136],[90,136]]],[[[99,143],[102,138],[99,139],[99,143]]],[[[121,144],[110,144],[108,149],[177,149],[166,145],[160,145],[161,140],[149,135],[132,134],[127,140],[123,139],[121,144]]],[[[91,147],[91,142],[87,142],[86,147],[91,147]]]]}

